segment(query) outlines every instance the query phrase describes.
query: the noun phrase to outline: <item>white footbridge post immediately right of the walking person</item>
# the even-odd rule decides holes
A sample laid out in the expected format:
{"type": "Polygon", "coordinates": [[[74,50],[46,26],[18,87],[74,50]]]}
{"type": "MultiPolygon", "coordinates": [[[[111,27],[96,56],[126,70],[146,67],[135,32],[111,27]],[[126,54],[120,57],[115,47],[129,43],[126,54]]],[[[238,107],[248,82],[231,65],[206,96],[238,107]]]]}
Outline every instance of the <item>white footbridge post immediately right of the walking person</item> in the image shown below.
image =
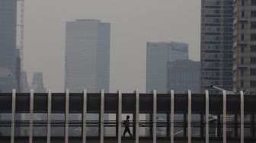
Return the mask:
{"type": "Polygon", "coordinates": [[[135,143],[139,143],[139,91],[136,90],[136,125],[135,125],[135,143]]]}

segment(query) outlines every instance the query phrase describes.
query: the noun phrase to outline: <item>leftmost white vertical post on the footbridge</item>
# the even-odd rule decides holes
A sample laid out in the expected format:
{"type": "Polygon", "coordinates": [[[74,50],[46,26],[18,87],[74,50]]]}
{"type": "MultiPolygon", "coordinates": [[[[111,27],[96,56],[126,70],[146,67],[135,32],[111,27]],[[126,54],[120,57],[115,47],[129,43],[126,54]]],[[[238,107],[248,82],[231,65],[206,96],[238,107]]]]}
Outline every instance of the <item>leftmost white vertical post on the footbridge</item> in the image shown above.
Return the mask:
{"type": "Polygon", "coordinates": [[[11,103],[11,143],[14,143],[15,133],[15,111],[16,111],[16,90],[12,90],[12,103],[11,103]]]}

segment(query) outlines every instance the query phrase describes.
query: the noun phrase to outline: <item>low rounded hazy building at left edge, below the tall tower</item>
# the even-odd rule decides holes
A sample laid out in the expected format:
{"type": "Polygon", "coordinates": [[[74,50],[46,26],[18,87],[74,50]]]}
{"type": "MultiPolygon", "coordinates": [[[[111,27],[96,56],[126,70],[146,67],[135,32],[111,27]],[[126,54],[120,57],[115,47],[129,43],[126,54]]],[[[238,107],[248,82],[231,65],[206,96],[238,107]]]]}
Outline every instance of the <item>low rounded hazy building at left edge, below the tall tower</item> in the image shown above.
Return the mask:
{"type": "Polygon", "coordinates": [[[0,93],[11,92],[15,84],[14,75],[6,67],[0,67],[0,93]]]}

